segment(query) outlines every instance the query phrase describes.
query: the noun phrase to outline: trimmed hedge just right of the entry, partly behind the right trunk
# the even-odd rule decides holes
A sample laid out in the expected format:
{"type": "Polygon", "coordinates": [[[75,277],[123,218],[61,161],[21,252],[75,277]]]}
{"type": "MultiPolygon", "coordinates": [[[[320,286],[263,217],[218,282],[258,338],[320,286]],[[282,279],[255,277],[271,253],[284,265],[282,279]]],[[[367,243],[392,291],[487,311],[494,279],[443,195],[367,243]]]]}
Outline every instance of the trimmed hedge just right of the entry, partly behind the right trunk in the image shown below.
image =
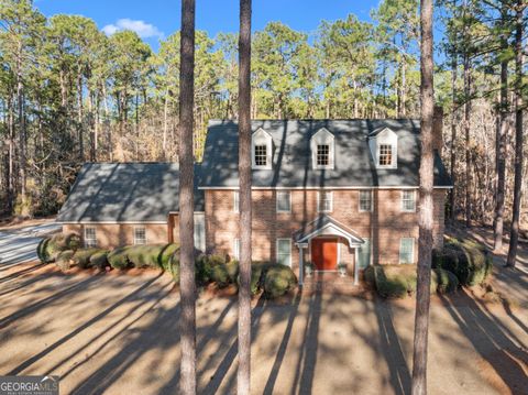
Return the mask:
{"type": "MultiPolygon", "coordinates": [[[[370,265],[365,281],[371,282],[384,298],[403,298],[416,293],[416,265],[370,265]]],[[[431,273],[431,294],[437,290],[437,274],[431,273]]]]}

